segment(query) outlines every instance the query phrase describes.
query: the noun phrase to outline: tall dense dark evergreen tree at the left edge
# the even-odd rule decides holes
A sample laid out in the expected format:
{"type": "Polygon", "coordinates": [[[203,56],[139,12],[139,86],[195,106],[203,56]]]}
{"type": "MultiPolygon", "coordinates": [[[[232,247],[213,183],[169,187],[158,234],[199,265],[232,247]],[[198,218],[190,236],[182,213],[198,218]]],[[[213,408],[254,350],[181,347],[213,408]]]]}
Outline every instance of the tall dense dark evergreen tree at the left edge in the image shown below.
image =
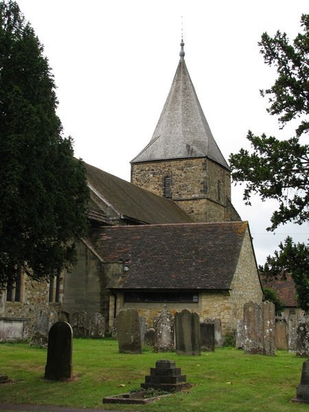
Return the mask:
{"type": "Polygon", "coordinates": [[[75,262],[87,230],[86,174],[62,137],[43,46],[14,1],[0,1],[0,286],[22,268],[48,279],[75,262]]]}

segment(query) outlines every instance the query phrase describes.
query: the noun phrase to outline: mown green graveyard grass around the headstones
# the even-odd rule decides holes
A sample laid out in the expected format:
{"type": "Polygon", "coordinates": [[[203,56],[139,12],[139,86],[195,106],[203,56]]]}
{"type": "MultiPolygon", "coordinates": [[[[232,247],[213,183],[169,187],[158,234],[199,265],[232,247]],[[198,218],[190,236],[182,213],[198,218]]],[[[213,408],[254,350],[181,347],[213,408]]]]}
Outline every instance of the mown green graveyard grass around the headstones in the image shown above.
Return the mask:
{"type": "Polygon", "coordinates": [[[118,411],[308,411],[291,402],[306,358],[277,351],[276,356],[247,355],[233,348],[202,356],[119,354],[113,339],[74,339],[71,381],[45,380],[47,350],[27,343],[0,344],[0,374],[14,383],[0,385],[0,402],[45,404],[118,411]],[[192,389],[146,405],[102,404],[105,396],[139,389],[159,359],[173,359],[192,389]]]}

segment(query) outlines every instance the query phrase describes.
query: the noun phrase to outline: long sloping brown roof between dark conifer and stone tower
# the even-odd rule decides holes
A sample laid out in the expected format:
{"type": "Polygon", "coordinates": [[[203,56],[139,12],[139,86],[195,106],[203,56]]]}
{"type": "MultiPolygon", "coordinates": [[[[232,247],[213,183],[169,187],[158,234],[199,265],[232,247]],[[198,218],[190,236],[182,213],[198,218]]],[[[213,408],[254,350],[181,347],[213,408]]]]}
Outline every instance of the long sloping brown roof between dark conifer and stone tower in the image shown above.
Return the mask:
{"type": "Polygon", "coordinates": [[[125,218],[148,224],[192,222],[192,218],[170,199],[157,196],[87,163],[84,166],[91,187],[125,218]]]}

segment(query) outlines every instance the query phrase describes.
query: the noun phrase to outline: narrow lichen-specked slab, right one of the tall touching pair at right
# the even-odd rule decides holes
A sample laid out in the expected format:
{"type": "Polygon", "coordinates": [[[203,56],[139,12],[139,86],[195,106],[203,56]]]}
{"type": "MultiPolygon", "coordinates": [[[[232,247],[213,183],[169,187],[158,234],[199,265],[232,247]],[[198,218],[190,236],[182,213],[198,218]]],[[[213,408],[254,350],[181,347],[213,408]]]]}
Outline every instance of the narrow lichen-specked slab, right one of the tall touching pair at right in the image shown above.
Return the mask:
{"type": "Polygon", "coordinates": [[[275,356],[275,305],[265,301],[262,307],[263,355],[275,356]]]}

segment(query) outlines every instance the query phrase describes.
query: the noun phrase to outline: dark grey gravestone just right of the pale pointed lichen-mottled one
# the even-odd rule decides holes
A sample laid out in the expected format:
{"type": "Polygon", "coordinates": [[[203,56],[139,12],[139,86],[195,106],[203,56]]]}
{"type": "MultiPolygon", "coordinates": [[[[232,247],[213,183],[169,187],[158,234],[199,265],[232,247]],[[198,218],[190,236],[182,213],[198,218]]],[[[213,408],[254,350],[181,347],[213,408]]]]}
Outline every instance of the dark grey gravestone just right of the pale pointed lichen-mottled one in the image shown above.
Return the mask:
{"type": "Polygon", "coordinates": [[[175,313],[176,354],[201,355],[200,317],[184,309],[175,313]]]}

